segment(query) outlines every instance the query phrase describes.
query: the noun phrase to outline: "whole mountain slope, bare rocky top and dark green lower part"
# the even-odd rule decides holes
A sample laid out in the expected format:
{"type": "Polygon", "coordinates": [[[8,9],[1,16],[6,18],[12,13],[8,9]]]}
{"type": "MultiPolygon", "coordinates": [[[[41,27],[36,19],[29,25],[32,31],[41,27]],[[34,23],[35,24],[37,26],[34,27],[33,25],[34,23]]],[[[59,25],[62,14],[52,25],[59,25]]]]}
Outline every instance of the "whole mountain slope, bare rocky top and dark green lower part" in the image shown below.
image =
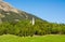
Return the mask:
{"type": "Polygon", "coordinates": [[[31,20],[32,17],[35,19],[41,19],[24,11],[20,11],[6,2],[0,1],[0,22],[18,22],[23,19],[31,20]]]}

